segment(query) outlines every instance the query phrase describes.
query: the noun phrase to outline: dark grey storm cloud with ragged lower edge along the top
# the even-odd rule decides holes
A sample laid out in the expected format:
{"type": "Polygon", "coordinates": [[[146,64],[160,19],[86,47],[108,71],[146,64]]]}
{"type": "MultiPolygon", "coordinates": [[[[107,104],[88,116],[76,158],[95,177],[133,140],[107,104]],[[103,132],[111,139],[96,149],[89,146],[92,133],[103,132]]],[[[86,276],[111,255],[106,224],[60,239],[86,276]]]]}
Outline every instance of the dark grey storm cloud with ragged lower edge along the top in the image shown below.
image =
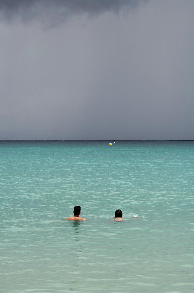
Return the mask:
{"type": "Polygon", "coordinates": [[[34,18],[61,22],[78,14],[90,16],[107,11],[118,13],[123,8],[132,8],[148,0],[0,0],[1,16],[7,20],[20,17],[23,21],[34,18]],[[52,19],[53,18],[53,19],[52,19]]]}

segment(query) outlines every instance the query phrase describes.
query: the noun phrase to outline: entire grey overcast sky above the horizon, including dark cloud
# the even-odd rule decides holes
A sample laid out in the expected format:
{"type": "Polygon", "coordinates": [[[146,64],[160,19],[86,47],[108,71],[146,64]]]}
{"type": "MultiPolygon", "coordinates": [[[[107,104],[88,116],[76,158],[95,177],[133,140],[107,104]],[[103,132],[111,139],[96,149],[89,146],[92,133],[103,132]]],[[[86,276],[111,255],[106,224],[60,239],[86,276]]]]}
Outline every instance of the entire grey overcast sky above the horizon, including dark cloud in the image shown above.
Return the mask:
{"type": "Polygon", "coordinates": [[[0,0],[0,139],[194,139],[193,0],[0,0]]]}

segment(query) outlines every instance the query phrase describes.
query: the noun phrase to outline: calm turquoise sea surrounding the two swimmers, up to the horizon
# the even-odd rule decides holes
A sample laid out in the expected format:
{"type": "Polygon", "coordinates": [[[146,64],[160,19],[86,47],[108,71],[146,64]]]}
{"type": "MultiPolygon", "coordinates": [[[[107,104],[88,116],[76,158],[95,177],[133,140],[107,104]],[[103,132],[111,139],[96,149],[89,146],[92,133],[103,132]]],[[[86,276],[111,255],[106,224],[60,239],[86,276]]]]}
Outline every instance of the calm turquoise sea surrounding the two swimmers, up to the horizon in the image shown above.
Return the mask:
{"type": "Polygon", "coordinates": [[[1,140],[0,156],[0,293],[194,292],[194,141],[1,140]],[[75,205],[92,222],[62,220],[75,205]]]}

